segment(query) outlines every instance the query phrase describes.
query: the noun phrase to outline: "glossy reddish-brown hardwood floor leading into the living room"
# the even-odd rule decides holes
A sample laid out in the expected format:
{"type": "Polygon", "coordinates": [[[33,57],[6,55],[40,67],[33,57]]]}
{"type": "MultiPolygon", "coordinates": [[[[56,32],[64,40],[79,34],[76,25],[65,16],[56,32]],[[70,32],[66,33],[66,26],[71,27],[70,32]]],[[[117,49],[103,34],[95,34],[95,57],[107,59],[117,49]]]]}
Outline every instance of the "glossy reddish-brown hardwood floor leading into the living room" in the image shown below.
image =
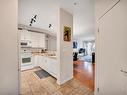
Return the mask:
{"type": "Polygon", "coordinates": [[[76,61],[74,62],[74,78],[94,91],[94,73],[95,66],[93,63],[76,61]]]}

